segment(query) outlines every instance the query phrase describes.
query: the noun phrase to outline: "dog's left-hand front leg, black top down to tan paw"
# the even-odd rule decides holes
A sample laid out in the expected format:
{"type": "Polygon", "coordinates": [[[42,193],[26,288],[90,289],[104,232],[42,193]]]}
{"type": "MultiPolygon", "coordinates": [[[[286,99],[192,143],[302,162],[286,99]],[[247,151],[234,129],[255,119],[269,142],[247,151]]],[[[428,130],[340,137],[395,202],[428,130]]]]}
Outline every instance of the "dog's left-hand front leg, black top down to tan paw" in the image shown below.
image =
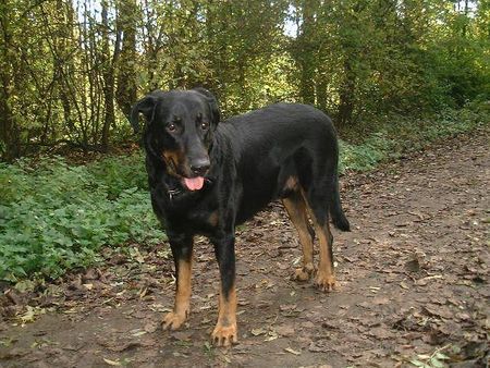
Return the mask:
{"type": "Polygon", "coordinates": [[[193,263],[193,237],[187,235],[169,237],[175,262],[175,304],[163,319],[163,329],[176,330],[187,319],[191,299],[191,273],[193,263]]]}

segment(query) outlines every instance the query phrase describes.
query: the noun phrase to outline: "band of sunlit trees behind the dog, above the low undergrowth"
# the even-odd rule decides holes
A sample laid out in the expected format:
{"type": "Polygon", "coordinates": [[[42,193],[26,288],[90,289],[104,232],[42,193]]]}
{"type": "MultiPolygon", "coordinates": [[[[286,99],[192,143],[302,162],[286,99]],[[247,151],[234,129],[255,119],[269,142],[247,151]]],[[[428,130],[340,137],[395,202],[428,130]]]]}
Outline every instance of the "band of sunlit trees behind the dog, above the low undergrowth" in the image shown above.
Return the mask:
{"type": "Polygon", "coordinates": [[[1,158],[109,151],[155,88],[209,88],[224,116],[313,103],[367,136],[487,101],[489,17],[488,0],[5,0],[1,158]]]}

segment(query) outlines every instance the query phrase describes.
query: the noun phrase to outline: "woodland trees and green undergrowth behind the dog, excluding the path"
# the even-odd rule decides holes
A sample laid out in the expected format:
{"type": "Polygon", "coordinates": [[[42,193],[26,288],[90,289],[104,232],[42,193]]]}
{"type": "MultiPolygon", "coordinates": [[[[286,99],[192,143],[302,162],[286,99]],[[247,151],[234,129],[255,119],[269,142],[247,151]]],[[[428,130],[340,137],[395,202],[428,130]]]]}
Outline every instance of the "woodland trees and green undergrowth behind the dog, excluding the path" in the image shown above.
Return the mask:
{"type": "Polygon", "coordinates": [[[0,81],[1,286],[169,254],[127,122],[155,88],[204,86],[224,118],[315,105],[341,173],[477,134],[490,1],[3,0],[0,81]]]}

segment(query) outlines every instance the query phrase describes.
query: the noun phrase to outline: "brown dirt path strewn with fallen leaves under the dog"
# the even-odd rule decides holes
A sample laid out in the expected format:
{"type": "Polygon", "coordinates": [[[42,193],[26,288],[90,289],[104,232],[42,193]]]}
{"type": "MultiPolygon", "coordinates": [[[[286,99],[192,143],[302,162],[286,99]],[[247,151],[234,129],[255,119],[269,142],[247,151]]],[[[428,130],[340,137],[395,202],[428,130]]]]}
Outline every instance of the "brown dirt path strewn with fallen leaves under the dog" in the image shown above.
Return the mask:
{"type": "Polygon", "coordinates": [[[480,131],[343,177],[353,231],[334,232],[339,287],[331,294],[290,281],[301,250],[279,205],[248,223],[237,236],[240,344],[231,349],[208,342],[218,271],[200,241],[183,330],[158,323],[172,305],[172,261],[157,248],[112,255],[107,267],[48,285],[34,299],[4,291],[3,316],[21,312],[27,323],[0,323],[0,367],[395,367],[430,357],[485,366],[488,148],[480,131]]]}

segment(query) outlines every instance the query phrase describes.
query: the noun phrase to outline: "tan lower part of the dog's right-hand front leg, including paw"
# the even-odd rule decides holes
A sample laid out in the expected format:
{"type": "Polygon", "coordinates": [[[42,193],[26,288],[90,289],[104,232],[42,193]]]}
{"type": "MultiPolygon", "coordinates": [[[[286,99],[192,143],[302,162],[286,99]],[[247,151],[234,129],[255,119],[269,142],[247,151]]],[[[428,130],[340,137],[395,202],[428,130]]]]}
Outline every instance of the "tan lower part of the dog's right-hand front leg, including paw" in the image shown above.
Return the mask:
{"type": "Polygon", "coordinates": [[[236,290],[232,286],[228,298],[220,293],[218,322],[211,333],[217,346],[230,346],[238,341],[236,328],[236,290]]]}

